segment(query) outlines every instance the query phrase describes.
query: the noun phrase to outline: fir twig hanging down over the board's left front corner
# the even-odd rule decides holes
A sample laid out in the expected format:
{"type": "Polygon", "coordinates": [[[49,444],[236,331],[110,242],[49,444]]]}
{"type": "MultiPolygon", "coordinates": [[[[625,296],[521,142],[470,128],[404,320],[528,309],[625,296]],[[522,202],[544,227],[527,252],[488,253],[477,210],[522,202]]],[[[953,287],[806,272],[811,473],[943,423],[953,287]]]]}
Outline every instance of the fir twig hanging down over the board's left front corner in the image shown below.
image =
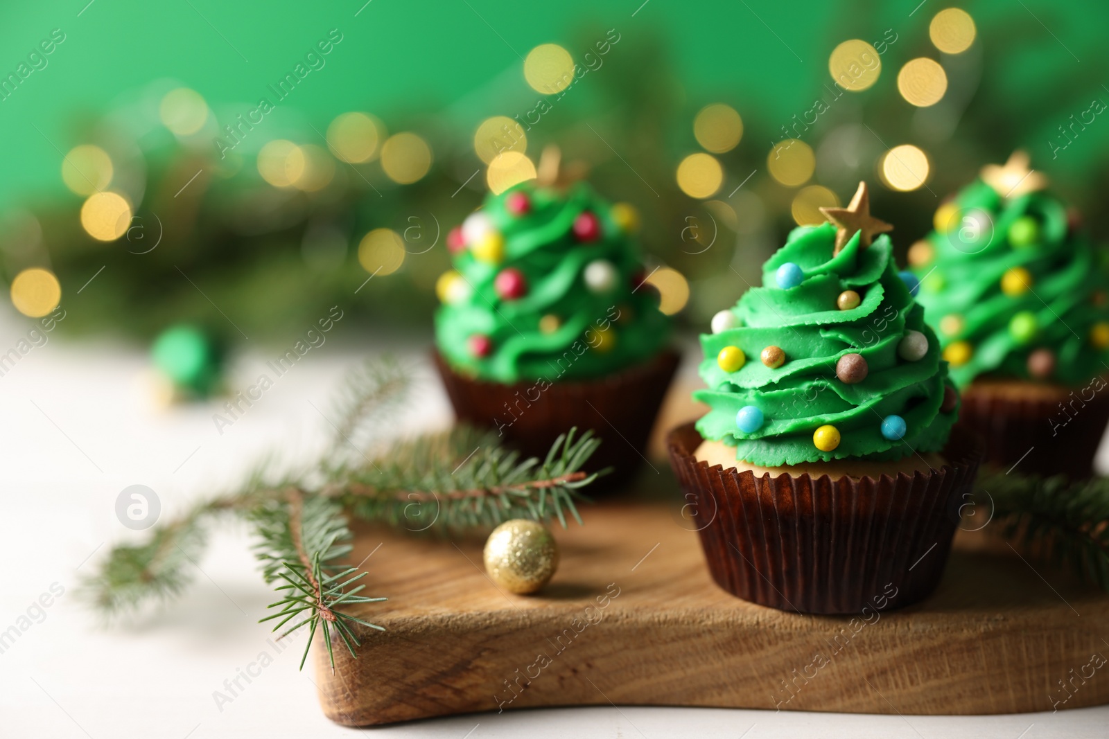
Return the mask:
{"type": "Polygon", "coordinates": [[[335,653],[332,634],[336,634],[353,657],[356,646],[362,646],[352,624],[385,630],[352,616],[339,606],[358,603],[376,603],[386,598],[370,598],[358,595],[365,585],[350,587],[366,576],[357,573],[357,567],[340,567],[328,563],[350,553],[353,537],[346,525],[342,506],[322,496],[305,496],[289,487],[284,500],[273,500],[253,515],[262,542],[256,547],[256,556],[263,563],[266,582],[282,582],[275,589],[285,592],[269,608],[281,608],[262,622],[277,620],[273,630],[277,632],[294,619],[295,623],[282,632],[278,638],[288,636],[302,626],[308,626],[308,640],[301,657],[301,667],[308,657],[316,629],[323,630],[324,645],[335,669],[335,653]]]}

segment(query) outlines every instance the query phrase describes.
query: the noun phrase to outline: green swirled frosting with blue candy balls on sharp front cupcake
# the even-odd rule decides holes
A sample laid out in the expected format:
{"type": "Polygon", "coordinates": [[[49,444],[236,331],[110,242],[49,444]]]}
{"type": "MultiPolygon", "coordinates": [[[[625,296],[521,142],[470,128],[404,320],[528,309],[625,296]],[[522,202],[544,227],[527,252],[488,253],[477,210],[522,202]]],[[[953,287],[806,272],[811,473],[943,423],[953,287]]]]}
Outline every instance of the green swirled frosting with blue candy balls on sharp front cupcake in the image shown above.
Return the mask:
{"type": "Polygon", "coordinates": [[[794,229],[764,265],[764,287],[701,337],[709,388],[693,397],[709,412],[696,428],[736,459],[897,460],[947,441],[957,397],[888,237],[863,248],[856,233],[833,256],[835,234],[794,229]]]}

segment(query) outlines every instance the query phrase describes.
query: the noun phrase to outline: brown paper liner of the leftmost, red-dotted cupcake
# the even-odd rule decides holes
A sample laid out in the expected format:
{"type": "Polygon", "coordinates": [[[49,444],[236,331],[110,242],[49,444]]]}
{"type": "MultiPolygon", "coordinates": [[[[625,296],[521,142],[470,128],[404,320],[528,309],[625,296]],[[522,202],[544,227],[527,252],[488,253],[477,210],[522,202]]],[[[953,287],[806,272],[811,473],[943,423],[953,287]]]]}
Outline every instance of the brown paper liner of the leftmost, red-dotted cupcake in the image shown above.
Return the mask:
{"type": "MultiPolygon", "coordinates": [[[[680,356],[667,350],[598,380],[513,384],[459,374],[435,350],[433,358],[458,420],[499,431],[525,455],[543,459],[560,433],[572,427],[592,429],[602,443],[586,469],[613,468],[598,481],[597,489],[607,490],[627,482],[643,463],[651,428],[680,356]]],[[[594,492],[592,485],[590,491],[594,492]]]]}

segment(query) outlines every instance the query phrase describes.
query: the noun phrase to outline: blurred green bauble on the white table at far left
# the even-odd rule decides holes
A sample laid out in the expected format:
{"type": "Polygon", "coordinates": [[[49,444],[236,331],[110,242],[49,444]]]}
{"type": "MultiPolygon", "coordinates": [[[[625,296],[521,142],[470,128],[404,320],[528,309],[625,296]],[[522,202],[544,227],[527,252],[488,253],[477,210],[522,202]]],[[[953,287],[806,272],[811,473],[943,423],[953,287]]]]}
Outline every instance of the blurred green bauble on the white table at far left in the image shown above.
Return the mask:
{"type": "Polygon", "coordinates": [[[151,359],[182,399],[207,398],[220,390],[223,348],[196,326],[176,325],[162,331],[151,347],[151,359]]]}

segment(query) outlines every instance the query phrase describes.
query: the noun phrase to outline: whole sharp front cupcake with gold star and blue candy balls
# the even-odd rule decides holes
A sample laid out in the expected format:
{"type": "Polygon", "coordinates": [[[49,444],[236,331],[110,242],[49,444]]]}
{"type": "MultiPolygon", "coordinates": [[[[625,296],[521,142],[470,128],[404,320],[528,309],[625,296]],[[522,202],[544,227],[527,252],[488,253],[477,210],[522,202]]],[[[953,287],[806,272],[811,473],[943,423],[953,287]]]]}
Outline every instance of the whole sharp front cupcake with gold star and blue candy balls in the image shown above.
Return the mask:
{"type": "Polygon", "coordinates": [[[701,337],[709,412],[670,454],[721,587],[857,614],[935,588],[977,451],[865,184],[825,215],[701,337]]]}

